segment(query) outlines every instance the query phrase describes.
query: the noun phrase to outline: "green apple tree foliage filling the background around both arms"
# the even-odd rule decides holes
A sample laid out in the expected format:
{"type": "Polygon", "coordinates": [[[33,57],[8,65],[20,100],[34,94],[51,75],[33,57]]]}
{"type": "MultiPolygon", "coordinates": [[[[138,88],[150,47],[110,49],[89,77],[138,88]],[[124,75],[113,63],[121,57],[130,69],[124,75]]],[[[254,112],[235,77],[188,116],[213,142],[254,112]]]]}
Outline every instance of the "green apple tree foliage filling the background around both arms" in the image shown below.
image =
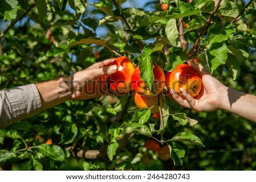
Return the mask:
{"type": "MultiPolygon", "coordinates": [[[[1,0],[0,89],[126,56],[148,88],[153,64],[166,73],[197,60],[225,86],[256,95],[255,15],[253,0],[1,0]]],[[[132,95],[66,101],[0,129],[0,167],[256,170],[255,123],[162,94],[153,115],[132,95]]]]}

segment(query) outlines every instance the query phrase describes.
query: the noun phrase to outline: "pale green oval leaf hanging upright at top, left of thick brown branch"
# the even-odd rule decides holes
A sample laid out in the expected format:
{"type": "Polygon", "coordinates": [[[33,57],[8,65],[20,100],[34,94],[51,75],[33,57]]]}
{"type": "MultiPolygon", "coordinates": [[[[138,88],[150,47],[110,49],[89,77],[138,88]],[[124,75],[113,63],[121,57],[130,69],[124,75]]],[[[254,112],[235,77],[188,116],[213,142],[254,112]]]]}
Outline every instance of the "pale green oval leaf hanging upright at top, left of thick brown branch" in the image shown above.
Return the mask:
{"type": "Polygon", "coordinates": [[[172,46],[180,46],[180,35],[177,29],[176,19],[170,19],[166,25],[166,36],[172,46]]]}

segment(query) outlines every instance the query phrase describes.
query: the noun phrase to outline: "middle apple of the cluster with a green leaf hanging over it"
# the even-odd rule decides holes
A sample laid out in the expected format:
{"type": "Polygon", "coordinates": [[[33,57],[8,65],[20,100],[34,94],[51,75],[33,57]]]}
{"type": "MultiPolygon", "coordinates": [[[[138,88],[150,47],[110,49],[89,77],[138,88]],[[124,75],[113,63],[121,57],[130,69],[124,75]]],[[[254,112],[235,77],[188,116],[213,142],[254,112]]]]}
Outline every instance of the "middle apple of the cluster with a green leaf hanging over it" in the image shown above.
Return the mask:
{"type": "Polygon", "coordinates": [[[156,96],[160,94],[160,92],[163,91],[164,86],[166,85],[166,78],[164,76],[163,69],[156,64],[153,65],[154,82],[151,90],[141,79],[141,71],[139,70],[139,66],[135,68],[135,70],[133,71],[133,75],[131,75],[131,85],[133,89],[139,94],[146,97],[156,96]]]}

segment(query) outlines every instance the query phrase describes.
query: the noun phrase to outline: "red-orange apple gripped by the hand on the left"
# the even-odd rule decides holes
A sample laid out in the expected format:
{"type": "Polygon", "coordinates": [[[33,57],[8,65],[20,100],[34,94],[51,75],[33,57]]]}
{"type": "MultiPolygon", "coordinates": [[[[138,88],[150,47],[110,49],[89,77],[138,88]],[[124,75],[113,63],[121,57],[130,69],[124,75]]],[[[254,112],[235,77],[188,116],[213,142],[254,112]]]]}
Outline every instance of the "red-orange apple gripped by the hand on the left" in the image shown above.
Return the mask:
{"type": "Polygon", "coordinates": [[[131,75],[135,69],[133,62],[129,58],[121,56],[110,65],[117,65],[117,71],[108,76],[108,84],[111,90],[115,94],[126,94],[131,91],[131,75]]]}

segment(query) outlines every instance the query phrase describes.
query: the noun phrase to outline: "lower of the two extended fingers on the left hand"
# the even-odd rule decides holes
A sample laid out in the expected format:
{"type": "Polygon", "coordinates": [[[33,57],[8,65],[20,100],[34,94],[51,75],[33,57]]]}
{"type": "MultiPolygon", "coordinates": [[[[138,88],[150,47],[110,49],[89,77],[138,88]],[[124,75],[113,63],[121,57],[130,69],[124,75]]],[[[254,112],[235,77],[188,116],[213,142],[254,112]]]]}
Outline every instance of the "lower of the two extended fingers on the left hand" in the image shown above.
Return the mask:
{"type": "Polygon", "coordinates": [[[90,78],[97,78],[100,75],[109,75],[113,74],[117,71],[117,65],[112,65],[112,66],[105,66],[105,67],[100,67],[96,69],[89,69],[88,70],[88,75],[90,78]]]}

